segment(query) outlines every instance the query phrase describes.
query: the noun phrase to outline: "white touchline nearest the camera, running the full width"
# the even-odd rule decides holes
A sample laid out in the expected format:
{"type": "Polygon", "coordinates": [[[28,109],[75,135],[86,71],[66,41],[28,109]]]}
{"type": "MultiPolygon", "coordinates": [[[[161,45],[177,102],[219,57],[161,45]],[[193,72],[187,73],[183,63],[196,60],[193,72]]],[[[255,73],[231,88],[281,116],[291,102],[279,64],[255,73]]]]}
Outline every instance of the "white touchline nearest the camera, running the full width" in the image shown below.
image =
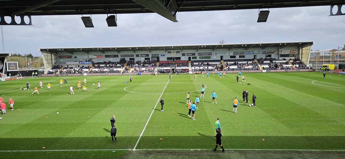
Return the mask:
{"type": "MultiPolygon", "coordinates": [[[[76,149],[76,150],[0,150],[0,152],[44,152],[44,151],[150,151],[150,150],[212,150],[212,149],[76,149]]],[[[244,151],[345,151],[345,150],[312,150],[312,149],[225,149],[244,151]]]]}

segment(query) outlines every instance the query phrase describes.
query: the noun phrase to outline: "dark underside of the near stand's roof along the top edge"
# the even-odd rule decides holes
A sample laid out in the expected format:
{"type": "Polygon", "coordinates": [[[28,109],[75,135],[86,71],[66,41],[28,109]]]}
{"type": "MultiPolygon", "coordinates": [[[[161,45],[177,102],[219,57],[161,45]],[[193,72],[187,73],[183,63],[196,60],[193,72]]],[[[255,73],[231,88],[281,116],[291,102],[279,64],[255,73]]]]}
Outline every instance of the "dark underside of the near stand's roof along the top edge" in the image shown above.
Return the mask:
{"type": "Polygon", "coordinates": [[[177,12],[343,5],[344,0],[0,0],[0,16],[177,12]]]}

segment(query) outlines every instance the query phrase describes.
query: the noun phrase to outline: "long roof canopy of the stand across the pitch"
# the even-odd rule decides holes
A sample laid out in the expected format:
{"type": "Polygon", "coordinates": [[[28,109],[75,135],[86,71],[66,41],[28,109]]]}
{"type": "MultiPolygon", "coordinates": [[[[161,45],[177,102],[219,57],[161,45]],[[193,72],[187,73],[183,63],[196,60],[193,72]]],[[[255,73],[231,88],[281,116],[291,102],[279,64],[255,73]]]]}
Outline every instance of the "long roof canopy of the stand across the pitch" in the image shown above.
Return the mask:
{"type": "Polygon", "coordinates": [[[203,50],[203,49],[249,49],[249,48],[260,48],[266,49],[268,47],[279,47],[283,49],[287,46],[297,46],[306,47],[313,45],[313,41],[303,41],[303,42],[274,42],[274,43],[238,43],[238,44],[197,44],[197,45],[156,45],[156,46],[112,46],[112,47],[59,47],[59,48],[39,48],[39,51],[56,54],[56,53],[70,53],[73,52],[101,52],[105,51],[116,51],[120,53],[121,51],[183,51],[183,50],[203,50]]]}

